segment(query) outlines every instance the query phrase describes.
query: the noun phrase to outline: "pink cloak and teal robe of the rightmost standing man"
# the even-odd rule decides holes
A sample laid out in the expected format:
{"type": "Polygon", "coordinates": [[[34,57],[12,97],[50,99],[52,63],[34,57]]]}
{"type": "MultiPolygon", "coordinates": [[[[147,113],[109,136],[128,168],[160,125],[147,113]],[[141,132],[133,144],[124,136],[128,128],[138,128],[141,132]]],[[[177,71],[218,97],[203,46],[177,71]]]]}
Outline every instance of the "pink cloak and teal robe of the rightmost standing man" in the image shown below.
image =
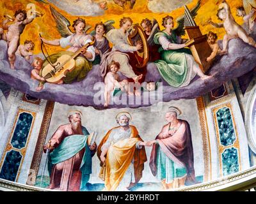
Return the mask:
{"type": "MultiPolygon", "coordinates": [[[[180,122],[182,124],[174,135],[169,135],[165,138],[160,135],[156,137],[157,143],[154,143],[150,156],[150,169],[156,177],[160,171],[159,168],[163,167],[161,166],[163,165],[163,161],[166,162],[166,158],[163,160],[164,153],[168,157],[167,161],[169,159],[172,161],[170,162],[170,168],[173,167],[173,179],[175,179],[175,176],[184,176],[184,170],[182,168],[185,168],[187,180],[196,183],[191,131],[186,120],[180,120],[180,122]]],[[[163,129],[166,129],[167,126],[169,124],[164,126],[163,129]]],[[[170,172],[166,171],[166,173],[170,172]]],[[[161,179],[164,179],[163,175],[161,177],[161,179]]]]}

